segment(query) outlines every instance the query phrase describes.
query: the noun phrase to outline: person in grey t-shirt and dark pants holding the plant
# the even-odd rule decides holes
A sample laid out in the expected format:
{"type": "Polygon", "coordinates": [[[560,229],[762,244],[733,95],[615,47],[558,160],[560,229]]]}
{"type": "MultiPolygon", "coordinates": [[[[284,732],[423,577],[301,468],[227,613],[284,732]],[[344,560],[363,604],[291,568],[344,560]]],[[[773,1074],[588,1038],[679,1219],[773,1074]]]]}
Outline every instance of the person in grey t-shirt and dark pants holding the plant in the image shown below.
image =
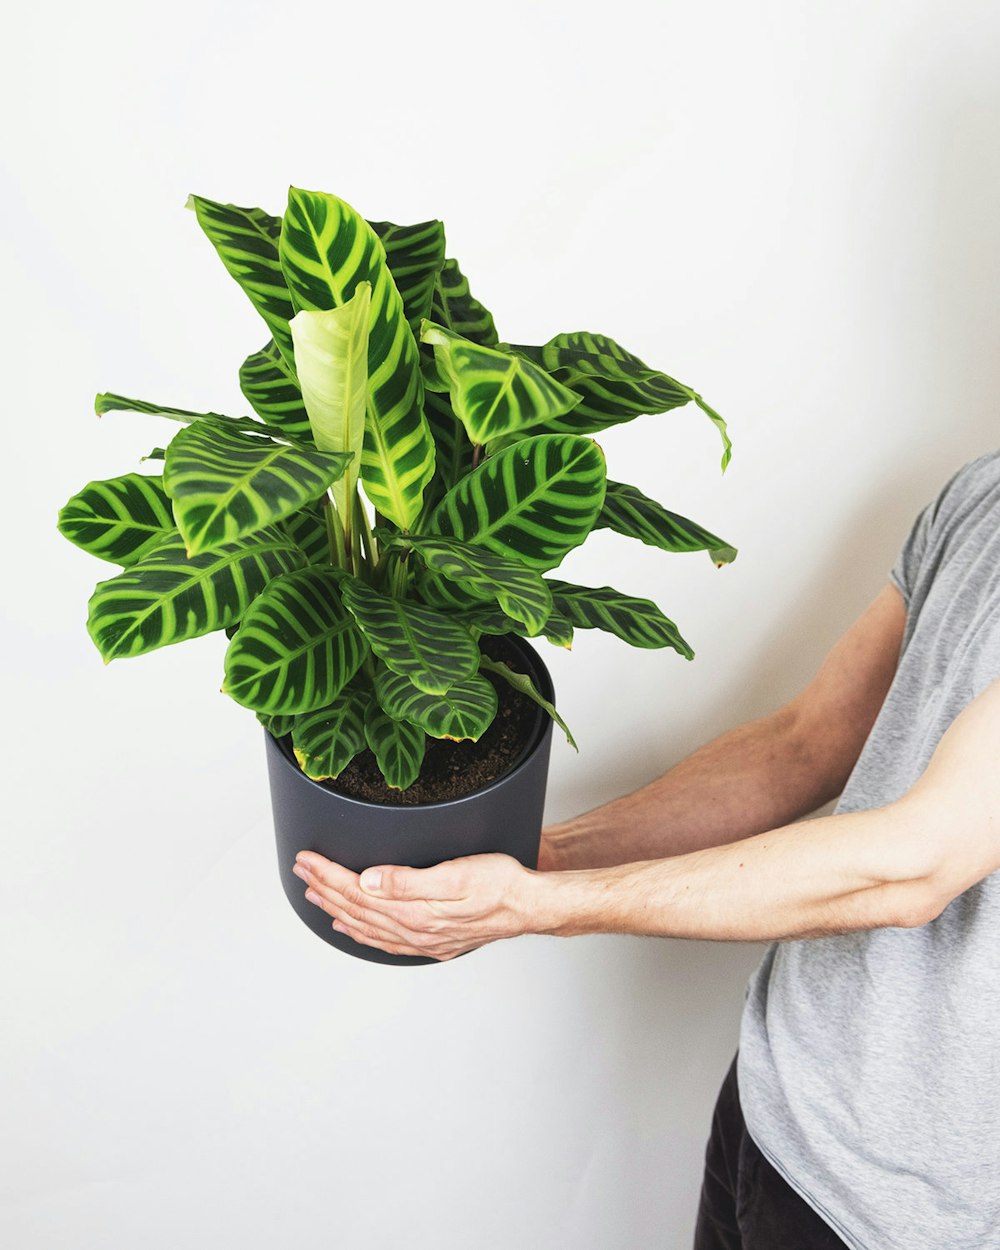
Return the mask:
{"type": "Polygon", "coordinates": [[[546,829],[539,871],[299,856],[338,929],[405,954],[769,940],[698,1250],[1000,1250],[999,520],[1000,451],[921,511],[801,694],[546,829]]]}

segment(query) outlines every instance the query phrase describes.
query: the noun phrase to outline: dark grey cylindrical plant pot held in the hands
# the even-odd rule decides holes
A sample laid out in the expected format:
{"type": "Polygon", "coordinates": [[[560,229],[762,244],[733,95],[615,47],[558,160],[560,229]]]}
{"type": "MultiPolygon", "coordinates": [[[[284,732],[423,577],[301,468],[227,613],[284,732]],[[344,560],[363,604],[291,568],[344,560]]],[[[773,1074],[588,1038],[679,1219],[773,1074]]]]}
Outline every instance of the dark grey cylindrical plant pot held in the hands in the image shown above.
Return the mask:
{"type": "MultiPolygon", "coordinates": [[[[552,701],[552,681],[538,652],[522,639],[504,640],[532,678],[538,691],[552,701]]],[[[511,659],[514,659],[511,656],[511,659]]],[[[516,661],[515,661],[516,662],[516,661]]],[[[552,721],[536,709],[524,754],[504,776],[480,790],[446,802],[384,806],[349,799],[299,768],[291,739],[274,739],[264,731],[268,774],[278,839],[278,866],[289,902],[314,934],[339,950],[378,964],[436,964],[418,955],[390,955],[362,946],[331,928],[330,916],[305,898],[305,885],[291,871],[300,850],[361,872],[375,864],[431,868],[460,855],[501,851],[536,868],[552,721]]]]}

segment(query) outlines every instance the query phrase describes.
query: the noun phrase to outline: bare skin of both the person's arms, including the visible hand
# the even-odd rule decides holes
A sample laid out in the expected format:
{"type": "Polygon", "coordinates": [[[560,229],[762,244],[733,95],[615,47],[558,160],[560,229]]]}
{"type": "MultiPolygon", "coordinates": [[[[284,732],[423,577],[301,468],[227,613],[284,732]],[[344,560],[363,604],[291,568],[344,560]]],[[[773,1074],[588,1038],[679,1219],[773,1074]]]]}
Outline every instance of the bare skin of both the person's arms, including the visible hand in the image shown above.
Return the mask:
{"type": "Polygon", "coordinates": [[[761,941],[916,928],[1000,869],[1000,681],[896,802],[802,821],[844,789],[892,681],[906,612],[888,585],[798,698],[655,781],[506,855],[360,876],[314,851],[306,898],[362,945],[448,960],[520,934],[761,941]]]}

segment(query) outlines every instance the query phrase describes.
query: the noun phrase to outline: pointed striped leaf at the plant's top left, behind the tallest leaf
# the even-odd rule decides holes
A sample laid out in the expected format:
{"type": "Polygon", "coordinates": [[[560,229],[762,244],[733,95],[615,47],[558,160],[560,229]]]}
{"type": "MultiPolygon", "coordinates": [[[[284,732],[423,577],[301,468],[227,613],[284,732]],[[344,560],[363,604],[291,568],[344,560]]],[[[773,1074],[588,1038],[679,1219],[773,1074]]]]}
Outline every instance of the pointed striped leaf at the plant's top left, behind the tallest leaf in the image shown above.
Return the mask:
{"type": "Polygon", "coordinates": [[[294,370],[289,321],[295,309],[278,256],[281,219],[262,209],[218,204],[200,195],[189,196],[188,208],[194,209],[219,259],[264,318],[279,351],[294,370]]]}

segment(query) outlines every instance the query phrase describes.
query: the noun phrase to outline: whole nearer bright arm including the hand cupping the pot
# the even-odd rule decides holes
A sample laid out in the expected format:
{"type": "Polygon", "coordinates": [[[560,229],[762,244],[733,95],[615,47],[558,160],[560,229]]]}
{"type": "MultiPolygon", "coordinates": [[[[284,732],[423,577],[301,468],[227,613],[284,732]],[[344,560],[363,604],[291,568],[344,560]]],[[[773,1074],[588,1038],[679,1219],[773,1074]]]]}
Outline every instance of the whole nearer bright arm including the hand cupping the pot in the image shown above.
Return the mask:
{"type": "Polygon", "coordinates": [[[310,851],[296,869],[335,928],[436,959],[524,932],[758,941],[915,928],[1000,869],[998,759],[1000,681],[956,718],[910,791],[872,811],[610,869],[531,872],[471,855],[359,880],[310,851]]]}

